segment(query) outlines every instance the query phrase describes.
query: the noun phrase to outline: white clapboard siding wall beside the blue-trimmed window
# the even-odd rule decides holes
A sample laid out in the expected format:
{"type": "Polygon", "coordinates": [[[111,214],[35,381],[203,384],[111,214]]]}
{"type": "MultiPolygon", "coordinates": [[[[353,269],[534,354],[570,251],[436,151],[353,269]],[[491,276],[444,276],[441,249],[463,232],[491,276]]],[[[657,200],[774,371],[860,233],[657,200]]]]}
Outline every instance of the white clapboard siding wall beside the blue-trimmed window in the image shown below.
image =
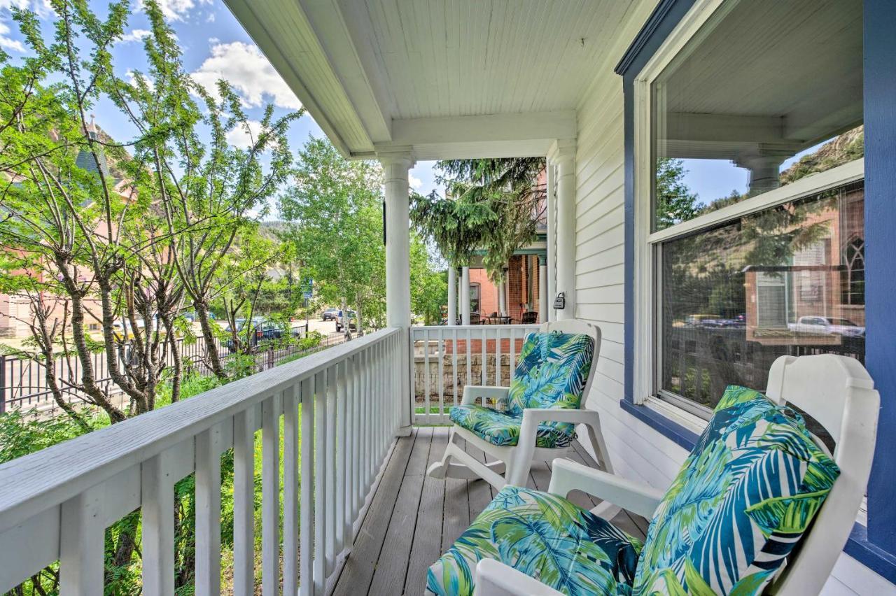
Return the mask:
{"type": "MultiPolygon", "coordinates": [[[[598,376],[587,404],[600,413],[616,472],[665,489],[687,452],[619,406],[625,382],[625,148],[622,78],[613,67],[655,2],[634,4],[610,58],[599,65],[577,109],[576,316],[593,321],[603,332],[598,376]]],[[[879,596],[896,594],[896,586],[844,554],[823,593],[879,596]]]]}

